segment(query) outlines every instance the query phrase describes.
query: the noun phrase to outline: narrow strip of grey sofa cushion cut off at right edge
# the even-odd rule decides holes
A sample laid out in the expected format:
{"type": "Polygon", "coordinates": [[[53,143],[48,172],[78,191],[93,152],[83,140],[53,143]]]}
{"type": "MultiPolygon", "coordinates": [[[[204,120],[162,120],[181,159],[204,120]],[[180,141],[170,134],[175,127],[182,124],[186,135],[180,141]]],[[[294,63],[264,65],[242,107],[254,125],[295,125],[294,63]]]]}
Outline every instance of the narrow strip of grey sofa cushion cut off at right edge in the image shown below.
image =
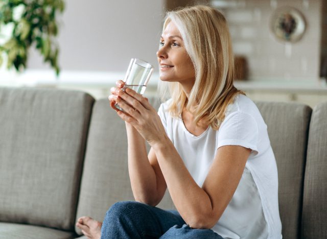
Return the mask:
{"type": "Polygon", "coordinates": [[[312,112],[302,210],[302,238],[327,238],[327,102],[312,112]]]}

